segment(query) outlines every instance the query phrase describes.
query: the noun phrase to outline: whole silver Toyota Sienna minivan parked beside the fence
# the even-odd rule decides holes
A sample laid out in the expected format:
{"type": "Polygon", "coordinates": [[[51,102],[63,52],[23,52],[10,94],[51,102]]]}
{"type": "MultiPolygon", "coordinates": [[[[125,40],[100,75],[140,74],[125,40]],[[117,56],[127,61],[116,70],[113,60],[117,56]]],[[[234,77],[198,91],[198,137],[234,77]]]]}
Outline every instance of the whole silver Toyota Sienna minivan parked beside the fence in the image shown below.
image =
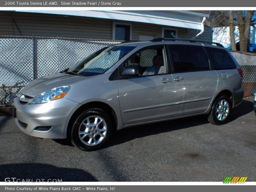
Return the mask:
{"type": "Polygon", "coordinates": [[[114,130],[140,124],[202,114],[212,124],[224,124],[243,99],[242,78],[220,44],[124,42],[30,82],[15,100],[13,115],[28,135],[68,138],[93,150],[114,130]]]}

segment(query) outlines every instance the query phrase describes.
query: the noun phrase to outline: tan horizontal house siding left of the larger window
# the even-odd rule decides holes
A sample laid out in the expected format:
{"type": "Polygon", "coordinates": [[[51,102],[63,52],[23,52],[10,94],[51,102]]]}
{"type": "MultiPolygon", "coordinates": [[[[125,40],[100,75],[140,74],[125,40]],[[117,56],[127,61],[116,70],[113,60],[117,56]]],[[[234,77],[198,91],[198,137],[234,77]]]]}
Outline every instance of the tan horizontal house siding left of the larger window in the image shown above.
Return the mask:
{"type": "MultiPolygon", "coordinates": [[[[52,14],[13,12],[22,36],[111,39],[111,20],[52,14]]],[[[12,12],[0,12],[0,35],[20,35],[12,12]]]]}

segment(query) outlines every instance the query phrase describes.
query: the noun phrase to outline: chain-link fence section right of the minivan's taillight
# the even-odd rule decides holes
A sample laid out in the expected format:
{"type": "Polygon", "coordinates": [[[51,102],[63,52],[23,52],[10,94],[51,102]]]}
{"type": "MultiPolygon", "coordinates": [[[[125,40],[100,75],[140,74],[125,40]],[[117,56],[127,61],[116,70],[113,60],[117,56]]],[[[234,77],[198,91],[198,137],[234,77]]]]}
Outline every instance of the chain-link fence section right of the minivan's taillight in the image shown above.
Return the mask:
{"type": "Polygon", "coordinates": [[[231,54],[244,72],[244,96],[252,96],[256,92],[256,54],[238,51],[231,51],[231,54]]]}

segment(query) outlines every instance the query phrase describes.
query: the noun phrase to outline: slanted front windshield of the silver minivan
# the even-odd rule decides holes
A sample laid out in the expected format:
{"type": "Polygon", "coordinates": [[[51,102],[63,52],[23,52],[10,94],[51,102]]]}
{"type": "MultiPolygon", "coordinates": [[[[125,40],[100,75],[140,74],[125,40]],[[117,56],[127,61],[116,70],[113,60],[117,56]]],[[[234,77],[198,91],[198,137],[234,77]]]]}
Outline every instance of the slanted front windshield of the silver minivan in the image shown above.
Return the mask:
{"type": "Polygon", "coordinates": [[[93,76],[105,73],[117,61],[122,59],[135,46],[104,47],[77,62],[67,73],[81,76],[93,76]]]}

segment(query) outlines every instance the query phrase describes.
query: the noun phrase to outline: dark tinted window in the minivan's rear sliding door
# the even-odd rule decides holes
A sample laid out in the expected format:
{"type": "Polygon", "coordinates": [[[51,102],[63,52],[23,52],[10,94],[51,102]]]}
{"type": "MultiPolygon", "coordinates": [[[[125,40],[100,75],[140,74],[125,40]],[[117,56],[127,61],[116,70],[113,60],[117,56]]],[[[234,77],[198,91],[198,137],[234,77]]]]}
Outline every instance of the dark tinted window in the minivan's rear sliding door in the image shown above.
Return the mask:
{"type": "Polygon", "coordinates": [[[169,45],[169,52],[175,73],[210,69],[208,57],[200,46],[169,45]]]}

